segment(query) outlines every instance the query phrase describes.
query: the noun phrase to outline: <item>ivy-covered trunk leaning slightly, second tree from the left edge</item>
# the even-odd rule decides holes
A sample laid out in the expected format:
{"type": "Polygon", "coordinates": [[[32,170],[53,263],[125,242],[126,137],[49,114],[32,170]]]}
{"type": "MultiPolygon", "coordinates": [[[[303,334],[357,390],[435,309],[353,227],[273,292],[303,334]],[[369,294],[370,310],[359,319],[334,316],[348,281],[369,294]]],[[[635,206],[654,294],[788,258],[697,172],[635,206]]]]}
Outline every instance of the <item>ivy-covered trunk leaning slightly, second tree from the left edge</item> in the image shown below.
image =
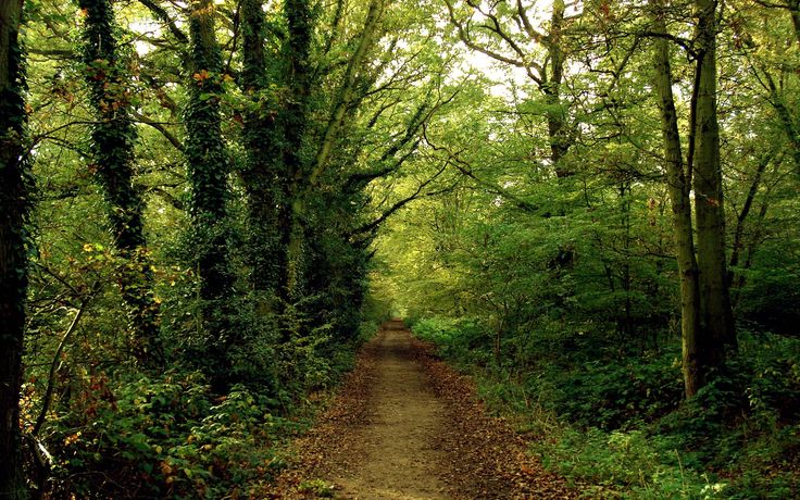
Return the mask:
{"type": "Polygon", "coordinates": [[[120,287],[134,355],[143,365],[158,365],[162,362],[159,305],[146,249],[143,202],[133,182],[136,129],[114,33],[114,11],[109,0],[78,0],[78,5],[84,11],[86,82],[96,114],[91,168],[102,188],[114,245],[122,258],[120,287]]]}

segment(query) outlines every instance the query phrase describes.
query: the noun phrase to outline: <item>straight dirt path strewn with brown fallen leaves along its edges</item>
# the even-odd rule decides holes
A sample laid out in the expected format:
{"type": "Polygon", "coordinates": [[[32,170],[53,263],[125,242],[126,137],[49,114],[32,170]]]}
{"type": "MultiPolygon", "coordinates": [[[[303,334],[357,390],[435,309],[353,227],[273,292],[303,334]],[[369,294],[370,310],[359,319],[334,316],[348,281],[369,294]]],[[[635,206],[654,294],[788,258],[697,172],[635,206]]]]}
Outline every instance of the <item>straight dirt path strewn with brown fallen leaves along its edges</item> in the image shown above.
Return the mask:
{"type": "Polygon", "coordinates": [[[292,445],[273,498],[577,498],[487,416],[472,383],[401,322],[384,324],[315,427],[292,445]]]}

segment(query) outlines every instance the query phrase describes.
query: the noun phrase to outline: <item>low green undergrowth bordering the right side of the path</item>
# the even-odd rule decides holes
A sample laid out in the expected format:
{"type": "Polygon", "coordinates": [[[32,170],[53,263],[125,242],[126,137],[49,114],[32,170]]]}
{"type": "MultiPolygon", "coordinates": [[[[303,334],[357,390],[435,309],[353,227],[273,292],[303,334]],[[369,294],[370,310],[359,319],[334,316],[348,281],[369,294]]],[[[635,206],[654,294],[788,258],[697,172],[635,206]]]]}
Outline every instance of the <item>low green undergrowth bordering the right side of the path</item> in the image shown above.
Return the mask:
{"type": "MultiPolygon", "coordinates": [[[[609,336],[508,336],[478,321],[411,321],[513,416],[550,468],[591,498],[796,498],[800,340],[740,333],[725,372],[683,402],[679,339],[621,348],[609,336]],[[637,352],[629,352],[636,350],[637,352]],[[591,486],[586,486],[591,485],[591,486]]],[[[543,328],[547,333],[548,328],[543,328]]]]}

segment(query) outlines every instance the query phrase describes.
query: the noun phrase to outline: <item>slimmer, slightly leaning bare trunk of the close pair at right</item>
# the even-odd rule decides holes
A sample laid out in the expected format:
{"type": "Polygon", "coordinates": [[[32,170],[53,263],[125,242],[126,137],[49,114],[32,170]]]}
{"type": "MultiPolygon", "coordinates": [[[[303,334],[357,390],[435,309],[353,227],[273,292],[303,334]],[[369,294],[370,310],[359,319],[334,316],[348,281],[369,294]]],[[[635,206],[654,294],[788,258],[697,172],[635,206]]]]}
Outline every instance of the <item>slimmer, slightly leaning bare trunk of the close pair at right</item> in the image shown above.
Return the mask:
{"type": "MultiPolygon", "coordinates": [[[[655,7],[655,30],[666,33],[661,4],[655,7]]],[[[692,237],[691,201],[689,199],[689,179],[684,167],[680,151],[678,117],[672,92],[672,68],[670,65],[670,47],[664,38],[657,38],[654,86],[659,97],[661,111],[661,133],[664,139],[664,157],[666,160],[666,179],[672,203],[672,225],[675,234],[675,255],[680,276],[680,338],[683,345],[683,373],[686,397],[695,396],[704,384],[703,371],[699,365],[700,335],[700,287],[698,265],[695,258],[692,237]]]]}

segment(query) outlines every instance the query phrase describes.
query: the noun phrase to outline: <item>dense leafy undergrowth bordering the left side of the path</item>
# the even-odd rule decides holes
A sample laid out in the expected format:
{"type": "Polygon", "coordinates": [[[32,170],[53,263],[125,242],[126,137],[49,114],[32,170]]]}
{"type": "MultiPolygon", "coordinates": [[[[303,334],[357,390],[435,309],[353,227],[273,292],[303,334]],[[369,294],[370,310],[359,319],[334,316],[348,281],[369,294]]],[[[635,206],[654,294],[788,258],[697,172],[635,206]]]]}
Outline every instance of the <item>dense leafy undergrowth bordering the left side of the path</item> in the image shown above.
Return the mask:
{"type": "MultiPolygon", "coordinates": [[[[291,346],[293,355],[273,371],[279,391],[253,378],[220,392],[189,365],[150,374],[72,373],[38,436],[49,470],[30,460],[38,495],[258,498],[286,466],[285,445],[308,428],[325,395],[352,367],[358,347],[376,329],[373,320],[343,345],[322,337],[305,349],[291,346]],[[291,377],[298,370],[313,376],[291,377]]],[[[25,422],[40,409],[36,383],[33,376],[26,386],[25,422]]]]}

